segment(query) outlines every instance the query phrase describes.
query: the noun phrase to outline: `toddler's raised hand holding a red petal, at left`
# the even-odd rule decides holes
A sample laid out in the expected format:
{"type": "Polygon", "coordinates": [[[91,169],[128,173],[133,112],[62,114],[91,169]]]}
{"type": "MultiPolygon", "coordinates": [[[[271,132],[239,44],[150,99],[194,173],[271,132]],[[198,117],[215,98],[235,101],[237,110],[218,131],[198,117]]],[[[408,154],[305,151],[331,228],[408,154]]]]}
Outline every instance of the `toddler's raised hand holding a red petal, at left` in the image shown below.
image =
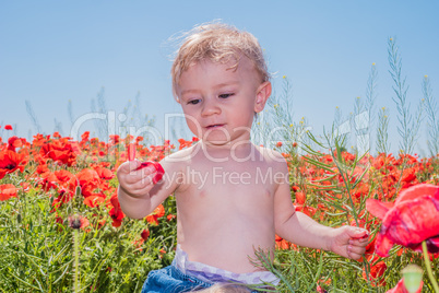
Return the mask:
{"type": "Polygon", "coordinates": [[[156,183],[157,171],[153,164],[142,167],[142,163],[127,161],[117,169],[119,185],[123,191],[131,197],[144,197],[150,192],[156,183]]]}

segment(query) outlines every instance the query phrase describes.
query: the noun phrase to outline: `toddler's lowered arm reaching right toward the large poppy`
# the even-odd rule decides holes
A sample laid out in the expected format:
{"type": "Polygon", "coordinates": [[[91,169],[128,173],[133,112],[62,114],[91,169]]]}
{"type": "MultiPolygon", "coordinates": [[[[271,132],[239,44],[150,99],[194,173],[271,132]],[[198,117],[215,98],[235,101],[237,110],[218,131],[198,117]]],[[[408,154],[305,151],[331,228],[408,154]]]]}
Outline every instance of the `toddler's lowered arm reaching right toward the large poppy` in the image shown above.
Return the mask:
{"type": "MultiPolygon", "coordinates": [[[[288,178],[286,163],[280,166],[288,178]]],[[[280,183],[274,195],[275,232],[282,238],[299,246],[324,249],[341,256],[357,259],[367,245],[367,231],[352,226],[333,228],[317,223],[302,212],[295,210],[289,191],[289,180],[280,183]]]]}

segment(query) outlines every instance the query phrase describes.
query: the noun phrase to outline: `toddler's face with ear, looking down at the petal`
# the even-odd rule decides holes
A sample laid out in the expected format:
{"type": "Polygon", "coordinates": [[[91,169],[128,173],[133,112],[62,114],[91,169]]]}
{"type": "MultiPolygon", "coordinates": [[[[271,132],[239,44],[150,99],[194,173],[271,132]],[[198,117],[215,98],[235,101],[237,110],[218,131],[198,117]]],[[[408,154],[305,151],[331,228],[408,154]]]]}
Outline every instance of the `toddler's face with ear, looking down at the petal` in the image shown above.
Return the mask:
{"type": "Polygon", "coordinates": [[[270,82],[260,82],[247,57],[237,69],[232,65],[202,60],[181,74],[177,86],[189,129],[211,144],[248,141],[254,113],[271,94],[270,82]]]}

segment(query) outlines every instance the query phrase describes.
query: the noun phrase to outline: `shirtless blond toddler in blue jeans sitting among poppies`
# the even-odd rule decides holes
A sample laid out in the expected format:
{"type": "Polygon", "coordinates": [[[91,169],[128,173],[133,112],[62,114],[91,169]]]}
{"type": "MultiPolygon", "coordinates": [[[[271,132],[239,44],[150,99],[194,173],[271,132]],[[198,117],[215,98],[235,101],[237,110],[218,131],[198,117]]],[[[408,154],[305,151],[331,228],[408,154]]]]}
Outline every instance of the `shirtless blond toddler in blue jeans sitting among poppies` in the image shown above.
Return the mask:
{"type": "Polygon", "coordinates": [[[118,197],[134,219],[150,214],[169,195],[177,201],[176,259],[152,271],[142,292],[186,292],[218,282],[259,284],[278,280],[253,267],[254,248],[272,250],[275,234],[292,243],[358,259],[367,231],[318,224],[295,211],[284,157],[250,142],[254,115],[271,83],[258,40],[225,24],[195,27],[174,61],[173,90],[189,129],[200,141],[153,167],[120,165],[118,197]]]}

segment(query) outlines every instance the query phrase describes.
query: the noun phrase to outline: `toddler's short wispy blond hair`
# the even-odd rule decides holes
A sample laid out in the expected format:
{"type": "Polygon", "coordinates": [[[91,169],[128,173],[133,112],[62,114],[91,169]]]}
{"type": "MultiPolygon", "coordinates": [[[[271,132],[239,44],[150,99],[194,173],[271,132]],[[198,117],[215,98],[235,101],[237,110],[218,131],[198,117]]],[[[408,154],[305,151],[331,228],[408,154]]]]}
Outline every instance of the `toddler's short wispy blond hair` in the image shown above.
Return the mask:
{"type": "Polygon", "coordinates": [[[222,63],[234,61],[230,68],[236,69],[242,55],[252,61],[261,82],[270,80],[262,48],[252,34],[218,22],[195,26],[185,35],[173,62],[170,74],[175,97],[181,74],[192,65],[204,59],[222,63]]]}

